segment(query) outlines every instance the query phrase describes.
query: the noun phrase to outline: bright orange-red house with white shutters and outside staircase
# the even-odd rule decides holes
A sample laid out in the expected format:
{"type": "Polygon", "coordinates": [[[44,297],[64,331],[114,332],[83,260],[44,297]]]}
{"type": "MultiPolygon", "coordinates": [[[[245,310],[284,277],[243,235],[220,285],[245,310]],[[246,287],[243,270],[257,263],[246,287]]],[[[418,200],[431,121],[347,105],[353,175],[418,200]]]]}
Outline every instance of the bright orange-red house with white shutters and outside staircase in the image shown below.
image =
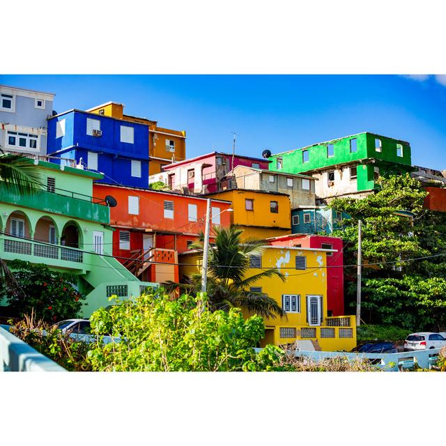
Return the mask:
{"type": "MultiPolygon", "coordinates": [[[[203,197],[93,183],[93,196],[116,199],[110,208],[113,255],[137,277],[148,282],[178,282],[178,252],[199,240],[206,224],[203,197]]],[[[211,200],[211,222],[229,226],[231,202],[211,200]]],[[[210,232],[210,243],[213,233],[210,232]]]]}

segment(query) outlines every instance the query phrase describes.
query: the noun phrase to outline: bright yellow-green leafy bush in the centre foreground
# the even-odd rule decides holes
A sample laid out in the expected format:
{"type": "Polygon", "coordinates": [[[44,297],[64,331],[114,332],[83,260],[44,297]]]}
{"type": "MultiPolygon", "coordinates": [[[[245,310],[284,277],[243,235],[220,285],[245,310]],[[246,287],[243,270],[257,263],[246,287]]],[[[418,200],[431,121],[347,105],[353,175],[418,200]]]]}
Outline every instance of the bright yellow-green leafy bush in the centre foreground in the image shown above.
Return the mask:
{"type": "Polygon", "coordinates": [[[239,309],[210,312],[206,294],[178,299],[162,290],[118,302],[91,316],[95,334],[121,337],[89,351],[95,371],[259,371],[274,369],[281,351],[268,346],[256,355],[263,320],[245,320],[239,309]]]}

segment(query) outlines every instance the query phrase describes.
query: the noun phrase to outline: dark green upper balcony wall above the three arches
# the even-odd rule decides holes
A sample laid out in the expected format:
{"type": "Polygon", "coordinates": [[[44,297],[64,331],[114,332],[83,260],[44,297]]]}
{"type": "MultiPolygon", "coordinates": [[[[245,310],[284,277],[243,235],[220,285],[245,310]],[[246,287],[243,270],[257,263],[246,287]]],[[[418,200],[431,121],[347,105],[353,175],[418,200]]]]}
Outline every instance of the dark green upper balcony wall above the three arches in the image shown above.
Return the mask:
{"type": "Polygon", "coordinates": [[[110,218],[108,206],[100,204],[100,199],[56,187],[54,187],[54,192],[42,190],[38,194],[23,195],[15,190],[7,190],[0,183],[1,201],[24,208],[42,210],[45,213],[67,215],[103,224],[109,223],[110,218]]]}

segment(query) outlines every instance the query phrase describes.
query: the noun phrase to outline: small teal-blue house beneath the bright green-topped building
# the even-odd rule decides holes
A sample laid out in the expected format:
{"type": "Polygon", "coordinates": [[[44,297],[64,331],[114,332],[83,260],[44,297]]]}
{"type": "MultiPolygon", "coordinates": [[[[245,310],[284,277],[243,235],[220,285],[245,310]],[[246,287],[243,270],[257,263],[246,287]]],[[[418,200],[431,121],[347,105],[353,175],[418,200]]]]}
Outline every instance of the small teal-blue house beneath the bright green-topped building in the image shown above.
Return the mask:
{"type": "Polygon", "coordinates": [[[341,229],[342,220],[348,218],[350,215],[327,206],[300,206],[291,210],[291,231],[302,234],[331,234],[341,229]]]}

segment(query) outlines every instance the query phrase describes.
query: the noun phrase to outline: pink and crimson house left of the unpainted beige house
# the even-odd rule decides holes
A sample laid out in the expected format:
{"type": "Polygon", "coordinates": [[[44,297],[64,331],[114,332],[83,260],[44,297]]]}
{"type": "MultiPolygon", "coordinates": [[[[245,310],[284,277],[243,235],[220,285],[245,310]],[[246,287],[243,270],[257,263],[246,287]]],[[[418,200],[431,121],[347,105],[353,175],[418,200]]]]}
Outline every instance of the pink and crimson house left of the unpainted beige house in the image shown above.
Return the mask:
{"type": "Polygon", "coordinates": [[[212,152],[188,160],[167,164],[161,174],[150,177],[150,182],[157,180],[168,184],[172,190],[180,192],[207,193],[226,188],[224,176],[233,167],[247,166],[257,169],[268,169],[270,161],[229,153],[212,152]]]}

